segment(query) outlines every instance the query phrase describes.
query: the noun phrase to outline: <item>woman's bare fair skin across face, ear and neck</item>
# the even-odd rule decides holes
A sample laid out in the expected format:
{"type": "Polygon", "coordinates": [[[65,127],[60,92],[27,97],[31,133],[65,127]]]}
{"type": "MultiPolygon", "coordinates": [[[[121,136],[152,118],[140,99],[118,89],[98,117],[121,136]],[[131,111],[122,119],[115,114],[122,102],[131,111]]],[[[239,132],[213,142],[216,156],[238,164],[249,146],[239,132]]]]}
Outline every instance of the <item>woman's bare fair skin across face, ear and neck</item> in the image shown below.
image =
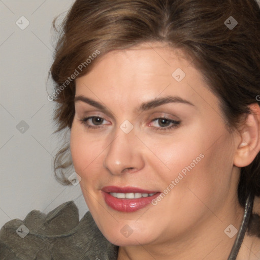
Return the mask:
{"type": "MultiPolygon", "coordinates": [[[[244,213],[237,198],[240,167],[260,150],[259,106],[251,105],[254,115],[239,131],[228,131],[218,98],[191,59],[161,43],[104,55],[76,80],[79,95],[106,108],[75,102],[71,153],[87,206],[106,239],[119,246],[118,259],[226,260],[236,236],[224,230],[230,224],[239,229],[244,213]],[[180,82],[172,76],[177,68],[186,74],[180,82]],[[191,104],[139,109],[166,96],[191,104]],[[91,116],[95,120],[80,121],[91,116]],[[156,118],[180,123],[169,128],[174,123],[156,118]],[[128,134],[120,128],[125,120],[134,127],[128,134]],[[200,154],[200,162],[155,206],[119,212],[102,197],[108,185],[164,192],[200,154]],[[133,231],[129,237],[120,232],[125,225],[133,231]]],[[[237,259],[260,259],[259,240],[246,236],[244,242],[237,259]]]]}

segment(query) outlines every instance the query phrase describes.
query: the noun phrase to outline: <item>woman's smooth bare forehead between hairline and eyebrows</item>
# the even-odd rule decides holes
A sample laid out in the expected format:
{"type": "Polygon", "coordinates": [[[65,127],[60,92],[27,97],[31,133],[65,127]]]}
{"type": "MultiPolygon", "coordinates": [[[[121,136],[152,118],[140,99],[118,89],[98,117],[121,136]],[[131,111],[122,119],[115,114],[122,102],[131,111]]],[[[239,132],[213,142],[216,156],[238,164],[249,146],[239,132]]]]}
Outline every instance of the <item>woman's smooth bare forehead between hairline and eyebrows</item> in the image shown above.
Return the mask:
{"type": "Polygon", "coordinates": [[[76,80],[76,95],[111,101],[122,109],[166,95],[203,108],[208,102],[218,103],[190,56],[181,49],[151,43],[101,56],[88,74],[76,80]]]}

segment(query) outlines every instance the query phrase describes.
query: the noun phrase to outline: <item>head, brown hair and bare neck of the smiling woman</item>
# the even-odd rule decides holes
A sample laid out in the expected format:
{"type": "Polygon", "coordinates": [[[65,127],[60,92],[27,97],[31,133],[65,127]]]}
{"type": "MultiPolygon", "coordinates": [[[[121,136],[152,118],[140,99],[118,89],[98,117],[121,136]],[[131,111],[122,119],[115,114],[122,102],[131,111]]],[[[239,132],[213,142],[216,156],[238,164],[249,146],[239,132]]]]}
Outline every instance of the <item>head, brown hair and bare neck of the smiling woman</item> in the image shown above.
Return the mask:
{"type": "Polygon", "coordinates": [[[259,22],[253,0],[74,3],[48,99],[97,258],[260,259],[259,22]]]}

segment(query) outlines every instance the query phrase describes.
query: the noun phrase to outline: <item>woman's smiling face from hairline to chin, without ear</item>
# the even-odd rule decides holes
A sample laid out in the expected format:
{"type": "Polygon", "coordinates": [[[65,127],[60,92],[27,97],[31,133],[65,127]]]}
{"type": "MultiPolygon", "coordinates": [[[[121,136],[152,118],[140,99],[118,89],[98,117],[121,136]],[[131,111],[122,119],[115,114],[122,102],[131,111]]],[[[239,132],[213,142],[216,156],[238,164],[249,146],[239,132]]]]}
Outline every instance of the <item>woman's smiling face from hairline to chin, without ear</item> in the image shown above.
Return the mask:
{"type": "Polygon", "coordinates": [[[224,234],[237,206],[236,144],[183,52],[160,44],[109,52],[76,80],[75,110],[75,171],[110,242],[187,241],[220,222],[224,234]]]}

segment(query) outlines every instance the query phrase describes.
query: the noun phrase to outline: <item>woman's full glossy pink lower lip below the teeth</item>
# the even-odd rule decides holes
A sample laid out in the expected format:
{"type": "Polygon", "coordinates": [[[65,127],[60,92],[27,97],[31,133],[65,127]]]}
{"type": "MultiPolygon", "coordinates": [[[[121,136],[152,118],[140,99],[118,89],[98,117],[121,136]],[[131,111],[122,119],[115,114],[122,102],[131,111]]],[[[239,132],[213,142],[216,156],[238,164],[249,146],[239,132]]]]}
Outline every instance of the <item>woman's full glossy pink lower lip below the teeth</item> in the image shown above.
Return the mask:
{"type": "Polygon", "coordinates": [[[112,209],[121,212],[134,212],[142,209],[150,204],[152,200],[160,194],[160,192],[157,192],[153,196],[142,197],[139,199],[118,199],[110,195],[108,192],[102,191],[102,193],[107,205],[112,209]]]}

